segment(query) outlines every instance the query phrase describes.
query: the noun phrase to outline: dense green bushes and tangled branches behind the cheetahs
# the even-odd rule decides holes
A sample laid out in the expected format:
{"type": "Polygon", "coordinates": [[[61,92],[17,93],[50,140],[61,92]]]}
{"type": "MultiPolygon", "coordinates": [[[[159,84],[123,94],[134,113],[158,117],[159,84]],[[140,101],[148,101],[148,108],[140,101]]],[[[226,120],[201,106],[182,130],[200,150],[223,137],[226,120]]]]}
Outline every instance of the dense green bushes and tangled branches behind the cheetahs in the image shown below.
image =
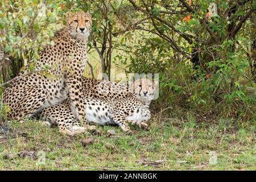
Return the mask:
{"type": "Polygon", "coordinates": [[[77,10],[91,13],[94,22],[85,76],[103,72],[115,80],[119,72],[159,73],[156,112],[179,118],[189,113],[206,122],[255,121],[253,0],[3,0],[2,90],[51,43],[54,31],[65,23],[65,13],[77,10]]]}

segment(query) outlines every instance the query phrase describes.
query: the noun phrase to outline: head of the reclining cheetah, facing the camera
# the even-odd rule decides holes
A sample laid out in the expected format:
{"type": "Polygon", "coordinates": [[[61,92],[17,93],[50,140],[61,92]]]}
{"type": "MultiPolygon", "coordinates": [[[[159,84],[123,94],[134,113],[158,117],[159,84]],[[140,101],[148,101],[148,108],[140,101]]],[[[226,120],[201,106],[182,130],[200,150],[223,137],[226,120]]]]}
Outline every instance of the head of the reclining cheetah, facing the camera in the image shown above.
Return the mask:
{"type": "Polygon", "coordinates": [[[138,100],[150,103],[155,96],[155,84],[147,78],[139,78],[133,82],[133,96],[138,100]]]}

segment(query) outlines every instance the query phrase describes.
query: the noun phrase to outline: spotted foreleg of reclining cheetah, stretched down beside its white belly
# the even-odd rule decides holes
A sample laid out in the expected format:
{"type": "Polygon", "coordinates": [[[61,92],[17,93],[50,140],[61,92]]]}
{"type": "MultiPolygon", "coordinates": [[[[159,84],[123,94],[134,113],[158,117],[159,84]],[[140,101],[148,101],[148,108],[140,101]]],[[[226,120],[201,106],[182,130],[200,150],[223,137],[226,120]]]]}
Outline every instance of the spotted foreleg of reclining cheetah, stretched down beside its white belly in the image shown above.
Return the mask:
{"type": "Polygon", "coordinates": [[[127,134],[133,134],[133,131],[131,131],[128,123],[125,120],[125,114],[119,111],[115,111],[113,113],[111,113],[111,118],[113,119],[113,121],[115,123],[117,123],[117,125],[119,125],[121,127],[121,129],[123,131],[125,131],[125,133],[127,134]]]}

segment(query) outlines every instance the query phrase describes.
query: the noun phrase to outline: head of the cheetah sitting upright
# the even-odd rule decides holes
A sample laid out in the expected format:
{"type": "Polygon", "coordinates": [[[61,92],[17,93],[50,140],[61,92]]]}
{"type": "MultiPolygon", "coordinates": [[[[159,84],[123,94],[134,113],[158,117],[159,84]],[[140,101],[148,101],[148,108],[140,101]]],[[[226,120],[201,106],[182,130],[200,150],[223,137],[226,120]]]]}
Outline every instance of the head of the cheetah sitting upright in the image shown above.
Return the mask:
{"type": "Polygon", "coordinates": [[[87,40],[91,31],[91,15],[83,11],[77,11],[75,13],[68,12],[67,18],[67,29],[71,36],[82,40],[87,40]]]}

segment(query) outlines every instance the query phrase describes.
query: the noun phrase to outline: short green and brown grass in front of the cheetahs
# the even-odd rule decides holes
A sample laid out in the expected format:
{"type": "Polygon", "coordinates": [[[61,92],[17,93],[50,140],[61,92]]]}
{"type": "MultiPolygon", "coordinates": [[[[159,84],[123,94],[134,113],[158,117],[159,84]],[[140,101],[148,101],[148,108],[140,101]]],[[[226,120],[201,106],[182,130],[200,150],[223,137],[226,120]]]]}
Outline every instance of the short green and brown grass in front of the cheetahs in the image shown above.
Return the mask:
{"type": "Polygon", "coordinates": [[[134,135],[124,134],[119,127],[98,126],[101,136],[93,136],[94,143],[84,147],[80,141],[89,133],[69,137],[37,122],[11,122],[11,133],[0,134],[0,170],[255,170],[255,124],[224,119],[212,123],[197,123],[193,117],[185,121],[155,117],[150,131],[132,126],[134,135]],[[109,129],[116,131],[114,137],[106,136],[109,129]],[[107,149],[106,143],[113,148],[107,149]],[[23,158],[22,151],[34,155],[23,158]],[[217,164],[209,164],[212,152],[217,154],[217,164]],[[37,164],[41,158],[45,164],[37,164]],[[164,163],[145,165],[145,160],[164,163]]]}

